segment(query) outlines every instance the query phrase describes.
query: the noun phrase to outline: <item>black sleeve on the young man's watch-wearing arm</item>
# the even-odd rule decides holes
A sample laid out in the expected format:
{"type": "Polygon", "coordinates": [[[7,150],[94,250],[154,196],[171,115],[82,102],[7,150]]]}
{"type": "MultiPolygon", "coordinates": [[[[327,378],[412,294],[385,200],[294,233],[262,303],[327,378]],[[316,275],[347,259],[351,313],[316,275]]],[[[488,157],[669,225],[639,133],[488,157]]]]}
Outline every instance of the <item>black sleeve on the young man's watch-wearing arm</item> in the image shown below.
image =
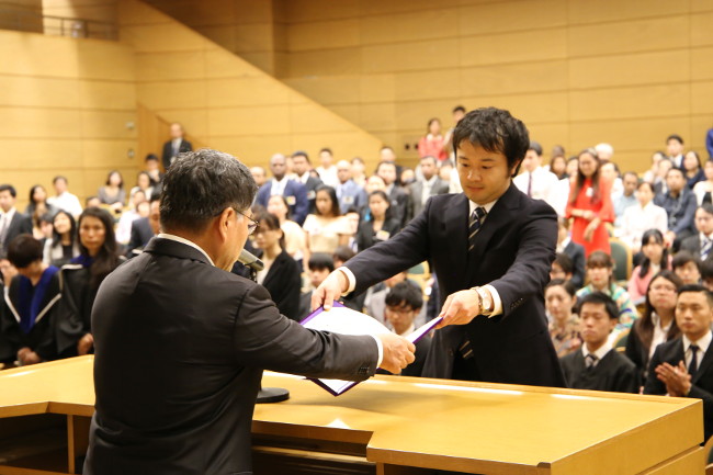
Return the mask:
{"type": "Polygon", "coordinates": [[[490,282],[502,301],[503,317],[527,298],[541,295],[550,282],[557,242],[557,214],[544,202],[534,203],[519,231],[520,242],[512,265],[500,279],[490,282]]]}

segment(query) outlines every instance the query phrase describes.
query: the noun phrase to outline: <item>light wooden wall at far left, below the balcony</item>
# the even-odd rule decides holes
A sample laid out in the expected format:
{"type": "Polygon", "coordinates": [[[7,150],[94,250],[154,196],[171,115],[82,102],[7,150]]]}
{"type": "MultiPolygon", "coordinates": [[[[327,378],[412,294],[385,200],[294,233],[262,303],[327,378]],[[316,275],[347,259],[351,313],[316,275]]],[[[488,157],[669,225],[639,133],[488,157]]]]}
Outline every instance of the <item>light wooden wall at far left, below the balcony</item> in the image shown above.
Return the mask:
{"type": "MultiPolygon", "coordinates": [[[[30,186],[61,173],[80,199],[107,171],[135,182],[134,56],[115,42],[0,31],[0,170],[24,207],[30,186]]],[[[52,194],[52,191],[50,191],[52,194]]]]}

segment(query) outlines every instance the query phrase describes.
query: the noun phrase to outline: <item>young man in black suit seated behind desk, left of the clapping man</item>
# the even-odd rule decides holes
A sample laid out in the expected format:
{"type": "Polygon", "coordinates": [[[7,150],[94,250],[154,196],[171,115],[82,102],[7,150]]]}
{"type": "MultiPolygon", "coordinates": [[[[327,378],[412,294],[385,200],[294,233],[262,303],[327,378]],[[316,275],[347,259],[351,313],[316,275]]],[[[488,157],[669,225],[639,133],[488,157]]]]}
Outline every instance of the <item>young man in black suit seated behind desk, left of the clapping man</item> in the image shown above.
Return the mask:
{"type": "Polygon", "coordinates": [[[595,292],[584,296],[578,308],[584,344],[580,351],[559,360],[567,385],[575,389],[638,393],[636,366],[609,342],[619,319],[614,301],[595,292]]]}

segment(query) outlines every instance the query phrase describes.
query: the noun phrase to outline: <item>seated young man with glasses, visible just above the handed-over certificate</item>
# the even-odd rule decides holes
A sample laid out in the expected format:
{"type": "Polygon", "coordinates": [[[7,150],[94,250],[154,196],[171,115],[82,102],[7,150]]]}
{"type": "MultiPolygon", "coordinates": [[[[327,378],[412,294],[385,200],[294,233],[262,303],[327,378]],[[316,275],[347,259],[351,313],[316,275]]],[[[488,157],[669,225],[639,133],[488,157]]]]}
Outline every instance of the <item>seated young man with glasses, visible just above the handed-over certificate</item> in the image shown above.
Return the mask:
{"type": "MultiPolygon", "coordinates": [[[[386,294],[386,307],[384,315],[386,320],[394,328],[396,335],[407,337],[416,330],[414,318],[423,307],[423,296],[421,290],[414,287],[408,282],[401,282],[394,285],[386,294]]],[[[431,348],[431,337],[425,336],[416,343],[416,360],[404,370],[404,376],[420,376],[423,370],[423,362],[431,348]]]]}

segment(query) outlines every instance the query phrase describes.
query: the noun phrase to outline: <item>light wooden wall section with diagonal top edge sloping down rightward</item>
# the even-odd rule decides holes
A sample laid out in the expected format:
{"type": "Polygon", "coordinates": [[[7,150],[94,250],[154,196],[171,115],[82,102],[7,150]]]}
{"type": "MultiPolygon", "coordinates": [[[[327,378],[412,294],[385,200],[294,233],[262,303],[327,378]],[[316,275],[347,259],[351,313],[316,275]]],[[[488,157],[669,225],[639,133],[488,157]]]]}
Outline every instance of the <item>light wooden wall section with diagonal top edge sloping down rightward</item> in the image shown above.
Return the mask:
{"type": "Polygon", "coordinates": [[[377,138],[143,2],[121,2],[120,35],[135,48],[137,102],[201,144],[248,165],[325,146],[337,157],[376,156],[377,138]]]}

